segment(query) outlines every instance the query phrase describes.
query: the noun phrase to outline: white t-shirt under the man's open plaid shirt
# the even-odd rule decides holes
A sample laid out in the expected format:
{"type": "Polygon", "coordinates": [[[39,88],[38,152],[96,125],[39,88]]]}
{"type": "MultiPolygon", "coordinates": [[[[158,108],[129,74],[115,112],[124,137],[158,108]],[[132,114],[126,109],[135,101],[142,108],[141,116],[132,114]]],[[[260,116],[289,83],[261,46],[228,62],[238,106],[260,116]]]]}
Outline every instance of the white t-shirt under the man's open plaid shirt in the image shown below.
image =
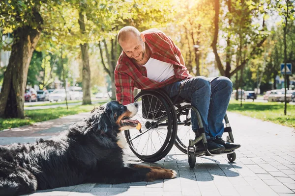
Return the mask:
{"type": "Polygon", "coordinates": [[[148,62],[143,66],[147,69],[148,78],[157,82],[163,82],[175,74],[173,64],[154,58],[149,58],[148,62]]]}

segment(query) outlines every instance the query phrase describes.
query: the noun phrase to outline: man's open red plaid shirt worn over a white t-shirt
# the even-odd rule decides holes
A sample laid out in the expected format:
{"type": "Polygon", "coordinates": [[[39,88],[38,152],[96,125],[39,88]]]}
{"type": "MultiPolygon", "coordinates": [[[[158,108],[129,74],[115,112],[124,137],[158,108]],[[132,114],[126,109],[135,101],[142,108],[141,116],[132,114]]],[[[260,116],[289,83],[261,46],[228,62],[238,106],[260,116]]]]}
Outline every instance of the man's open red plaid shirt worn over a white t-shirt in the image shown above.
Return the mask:
{"type": "Polygon", "coordinates": [[[175,75],[163,82],[149,79],[146,67],[137,65],[122,51],[115,69],[115,86],[117,100],[124,105],[134,102],[134,87],[143,90],[158,89],[192,77],[186,67],[181,65],[179,61],[180,50],[169,37],[156,28],[142,33],[145,35],[146,43],[150,49],[150,57],[173,64],[175,75]]]}

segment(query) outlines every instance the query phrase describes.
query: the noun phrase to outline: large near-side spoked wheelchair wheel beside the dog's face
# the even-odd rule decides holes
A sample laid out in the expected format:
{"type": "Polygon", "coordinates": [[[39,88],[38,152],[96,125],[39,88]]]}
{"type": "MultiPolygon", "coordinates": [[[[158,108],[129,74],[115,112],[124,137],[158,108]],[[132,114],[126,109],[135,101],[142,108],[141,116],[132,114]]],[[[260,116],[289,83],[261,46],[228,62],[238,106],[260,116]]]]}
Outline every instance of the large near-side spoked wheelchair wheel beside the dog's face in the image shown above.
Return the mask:
{"type": "Polygon", "coordinates": [[[134,119],[142,124],[142,133],[137,129],[125,130],[127,143],[141,160],[161,160],[169,153],[176,138],[175,110],[166,98],[155,91],[142,91],[134,99],[139,104],[134,119]]]}

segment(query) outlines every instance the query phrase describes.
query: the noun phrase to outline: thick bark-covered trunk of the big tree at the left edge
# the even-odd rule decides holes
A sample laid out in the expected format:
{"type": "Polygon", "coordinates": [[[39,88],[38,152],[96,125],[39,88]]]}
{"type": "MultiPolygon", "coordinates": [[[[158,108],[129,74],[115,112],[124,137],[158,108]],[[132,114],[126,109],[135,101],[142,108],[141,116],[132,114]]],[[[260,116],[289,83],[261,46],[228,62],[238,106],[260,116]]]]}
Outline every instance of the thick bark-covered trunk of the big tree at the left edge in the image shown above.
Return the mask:
{"type": "MultiPolygon", "coordinates": [[[[42,23],[36,14],[35,20],[42,23]]],[[[41,28],[22,26],[14,31],[9,63],[0,93],[0,118],[24,118],[24,94],[29,63],[40,38],[41,28]]]]}

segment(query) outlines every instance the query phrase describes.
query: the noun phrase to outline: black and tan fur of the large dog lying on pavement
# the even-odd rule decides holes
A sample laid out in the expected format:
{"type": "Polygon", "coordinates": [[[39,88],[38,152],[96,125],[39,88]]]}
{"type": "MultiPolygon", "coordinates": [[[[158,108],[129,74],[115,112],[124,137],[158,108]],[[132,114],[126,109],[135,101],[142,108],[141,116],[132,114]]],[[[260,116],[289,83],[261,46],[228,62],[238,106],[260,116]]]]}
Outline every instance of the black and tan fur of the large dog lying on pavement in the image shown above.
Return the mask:
{"type": "Polygon", "coordinates": [[[0,196],[86,182],[115,184],[174,178],[172,170],[131,164],[124,167],[117,134],[128,128],[120,123],[120,119],[130,117],[127,108],[111,101],[55,139],[0,147],[0,196]]]}

